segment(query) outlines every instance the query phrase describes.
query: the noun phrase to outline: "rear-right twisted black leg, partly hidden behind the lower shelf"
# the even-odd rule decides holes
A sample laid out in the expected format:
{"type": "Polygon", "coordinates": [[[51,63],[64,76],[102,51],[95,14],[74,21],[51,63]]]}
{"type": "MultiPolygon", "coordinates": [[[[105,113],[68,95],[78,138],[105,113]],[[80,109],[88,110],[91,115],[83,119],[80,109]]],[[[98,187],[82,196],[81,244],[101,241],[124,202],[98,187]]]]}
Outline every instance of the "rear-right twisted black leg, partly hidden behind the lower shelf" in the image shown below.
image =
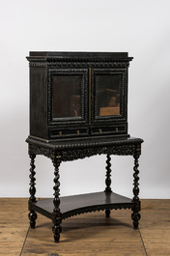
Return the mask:
{"type": "MultiPolygon", "coordinates": [[[[106,159],[106,167],[105,167],[105,169],[106,169],[105,192],[111,193],[112,192],[111,186],[110,186],[111,185],[111,178],[110,178],[111,177],[111,168],[110,168],[111,167],[111,163],[110,163],[111,157],[109,155],[107,155],[106,157],[107,157],[107,159],[106,159]]],[[[106,217],[110,216],[110,210],[105,211],[105,216],[106,217]]]]}

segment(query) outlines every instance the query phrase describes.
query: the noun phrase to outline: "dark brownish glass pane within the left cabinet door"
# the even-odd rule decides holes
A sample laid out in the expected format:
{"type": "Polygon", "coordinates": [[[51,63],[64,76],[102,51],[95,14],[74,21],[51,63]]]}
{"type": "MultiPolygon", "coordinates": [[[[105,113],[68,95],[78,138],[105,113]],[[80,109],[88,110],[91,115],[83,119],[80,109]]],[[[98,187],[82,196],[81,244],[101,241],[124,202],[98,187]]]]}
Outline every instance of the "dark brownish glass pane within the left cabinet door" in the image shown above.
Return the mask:
{"type": "Polygon", "coordinates": [[[53,118],[81,116],[81,75],[52,76],[53,118]]]}

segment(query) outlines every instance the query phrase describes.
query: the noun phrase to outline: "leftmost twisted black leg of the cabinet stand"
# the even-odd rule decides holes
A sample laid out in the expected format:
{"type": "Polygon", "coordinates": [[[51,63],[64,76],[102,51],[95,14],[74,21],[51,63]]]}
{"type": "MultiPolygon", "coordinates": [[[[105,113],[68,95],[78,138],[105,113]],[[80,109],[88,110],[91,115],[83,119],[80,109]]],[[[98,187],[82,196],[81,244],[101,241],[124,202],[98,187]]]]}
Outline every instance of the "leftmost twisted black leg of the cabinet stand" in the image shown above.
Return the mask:
{"type": "Polygon", "coordinates": [[[29,192],[30,192],[30,198],[29,198],[29,210],[30,210],[30,213],[28,213],[28,217],[30,219],[30,227],[31,228],[35,228],[36,226],[36,219],[37,219],[37,213],[31,209],[30,207],[30,203],[34,203],[36,202],[36,178],[35,178],[35,175],[36,175],[36,172],[35,172],[35,158],[36,158],[36,155],[35,154],[30,154],[29,155],[31,160],[30,160],[30,175],[29,175],[29,178],[30,178],[30,189],[29,189],[29,192]]]}

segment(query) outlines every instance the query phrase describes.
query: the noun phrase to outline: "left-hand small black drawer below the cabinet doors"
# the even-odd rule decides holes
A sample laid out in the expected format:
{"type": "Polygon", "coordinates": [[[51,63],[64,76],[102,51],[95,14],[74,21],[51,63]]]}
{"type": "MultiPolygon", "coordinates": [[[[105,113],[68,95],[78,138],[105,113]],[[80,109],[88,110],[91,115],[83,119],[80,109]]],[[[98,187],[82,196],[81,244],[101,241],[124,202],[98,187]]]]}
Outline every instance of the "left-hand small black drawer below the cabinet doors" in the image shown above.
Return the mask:
{"type": "Polygon", "coordinates": [[[88,135],[88,128],[49,128],[50,138],[81,137],[88,135]]]}

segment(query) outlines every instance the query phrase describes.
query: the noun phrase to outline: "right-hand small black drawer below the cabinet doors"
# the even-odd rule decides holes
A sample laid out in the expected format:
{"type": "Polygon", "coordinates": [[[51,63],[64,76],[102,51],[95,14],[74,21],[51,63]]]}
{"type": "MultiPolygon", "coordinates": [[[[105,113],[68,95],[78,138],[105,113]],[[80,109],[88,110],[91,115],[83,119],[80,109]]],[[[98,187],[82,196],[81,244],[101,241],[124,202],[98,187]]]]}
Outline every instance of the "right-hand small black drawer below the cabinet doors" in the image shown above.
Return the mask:
{"type": "Polygon", "coordinates": [[[117,125],[117,126],[108,126],[108,127],[94,127],[91,128],[92,135],[104,135],[104,134],[127,134],[128,128],[127,124],[117,125]]]}

